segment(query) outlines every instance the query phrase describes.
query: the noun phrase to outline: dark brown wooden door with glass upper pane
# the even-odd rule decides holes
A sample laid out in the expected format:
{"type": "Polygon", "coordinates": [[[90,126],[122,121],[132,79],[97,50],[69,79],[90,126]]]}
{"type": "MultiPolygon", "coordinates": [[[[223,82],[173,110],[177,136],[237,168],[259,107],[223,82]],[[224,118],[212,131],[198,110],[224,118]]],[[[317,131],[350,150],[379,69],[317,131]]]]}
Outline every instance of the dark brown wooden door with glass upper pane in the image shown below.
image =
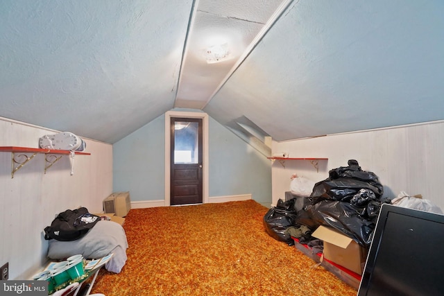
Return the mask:
{"type": "Polygon", "coordinates": [[[202,203],[202,119],[171,117],[170,204],[202,203]]]}

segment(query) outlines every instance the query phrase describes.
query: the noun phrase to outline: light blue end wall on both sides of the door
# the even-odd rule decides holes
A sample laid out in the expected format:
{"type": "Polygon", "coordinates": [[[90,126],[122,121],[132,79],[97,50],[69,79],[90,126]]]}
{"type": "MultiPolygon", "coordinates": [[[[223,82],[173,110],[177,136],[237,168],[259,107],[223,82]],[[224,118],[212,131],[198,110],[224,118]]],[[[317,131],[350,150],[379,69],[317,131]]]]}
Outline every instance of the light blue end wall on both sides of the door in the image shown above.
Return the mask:
{"type": "MultiPolygon", "coordinates": [[[[159,116],[113,145],[113,191],[132,201],[164,200],[164,121],[159,116]]],[[[209,120],[210,197],[252,194],[271,204],[271,164],[223,125],[209,120]]]]}

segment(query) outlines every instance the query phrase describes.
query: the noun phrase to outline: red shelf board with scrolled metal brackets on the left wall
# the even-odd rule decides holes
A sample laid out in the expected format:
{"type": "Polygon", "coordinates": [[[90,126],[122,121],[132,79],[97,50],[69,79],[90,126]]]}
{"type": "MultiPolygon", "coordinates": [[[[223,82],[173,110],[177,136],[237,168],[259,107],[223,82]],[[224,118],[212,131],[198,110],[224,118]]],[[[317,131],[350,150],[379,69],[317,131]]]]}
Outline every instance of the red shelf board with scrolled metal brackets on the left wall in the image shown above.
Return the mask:
{"type": "MultiPolygon", "coordinates": [[[[19,171],[25,164],[27,164],[31,159],[37,155],[37,153],[45,155],[45,166],[44,173],[55,164],[63,155],[91,155],[91,153],[84,153],[80,151],[69,151],[69,150],[52,150],[52,149],[42,149],[42,148],[28,148],[28,147],[16,147],[16,146],[2,146],[0,147],[0,152],[10,152],[11,153],[11,179],[14,177],[14,173],[19,171]],[[16,154],[17,153],[17,154],[16,154]],[[32,153],[31,156],[26,154],[32,153]],[[60,155],[60,156],[56,156],[60,155]]],[[[71,164],[71,175],[72,164],[71,164]]]]}

